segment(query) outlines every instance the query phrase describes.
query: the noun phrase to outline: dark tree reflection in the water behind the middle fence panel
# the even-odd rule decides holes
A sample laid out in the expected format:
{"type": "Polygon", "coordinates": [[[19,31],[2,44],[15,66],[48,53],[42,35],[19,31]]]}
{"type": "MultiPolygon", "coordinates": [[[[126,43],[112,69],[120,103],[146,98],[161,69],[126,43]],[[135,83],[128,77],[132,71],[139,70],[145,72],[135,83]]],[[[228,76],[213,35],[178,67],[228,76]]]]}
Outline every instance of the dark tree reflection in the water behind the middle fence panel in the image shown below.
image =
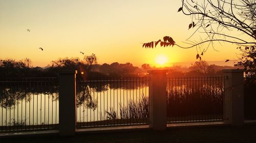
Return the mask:
{"type": "Polygon", "coordinates": [[[106,92],[108,90],[136,90],[146,89],[149,84],[147,77],[115,77],[115,78],[83,78],[76,79],[77,106],[86,106],[95,110],[97,100],[94,100],[94,93],[106,92]]]}

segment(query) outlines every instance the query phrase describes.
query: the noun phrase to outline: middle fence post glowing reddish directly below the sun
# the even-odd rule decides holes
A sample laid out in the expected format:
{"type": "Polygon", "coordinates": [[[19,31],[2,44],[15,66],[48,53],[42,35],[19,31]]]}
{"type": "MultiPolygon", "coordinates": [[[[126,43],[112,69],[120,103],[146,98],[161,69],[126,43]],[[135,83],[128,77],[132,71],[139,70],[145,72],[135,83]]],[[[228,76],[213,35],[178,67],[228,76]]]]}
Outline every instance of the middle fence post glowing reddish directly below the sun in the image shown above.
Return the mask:
{"type": "Polygon", "coordinates": [[[166,70],[150,70],[150,127],[166,128],[166,70]]]}

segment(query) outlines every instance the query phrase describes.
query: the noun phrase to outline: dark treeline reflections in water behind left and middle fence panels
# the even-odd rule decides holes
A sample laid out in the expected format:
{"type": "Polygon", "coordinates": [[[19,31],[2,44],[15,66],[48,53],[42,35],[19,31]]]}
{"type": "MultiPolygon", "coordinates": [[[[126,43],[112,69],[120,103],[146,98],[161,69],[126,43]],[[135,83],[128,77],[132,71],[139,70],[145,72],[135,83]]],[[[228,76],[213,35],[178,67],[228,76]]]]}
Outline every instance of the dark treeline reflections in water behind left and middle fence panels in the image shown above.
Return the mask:
{"type": "MultiPolygon", "coordinates": [[[[88,78],[76,80],[77,106],[95,109],[97,101],[92,93],[108,90],[136,90],[146,89],[148,77],[120,77],[120,78],[88,78]]],[[[0,106],[14,108],[21,101],[30,102],[32,97],[47,96],[53,101],[58,100],[57,78],[8,78],[0,80],[0,106]]]]}

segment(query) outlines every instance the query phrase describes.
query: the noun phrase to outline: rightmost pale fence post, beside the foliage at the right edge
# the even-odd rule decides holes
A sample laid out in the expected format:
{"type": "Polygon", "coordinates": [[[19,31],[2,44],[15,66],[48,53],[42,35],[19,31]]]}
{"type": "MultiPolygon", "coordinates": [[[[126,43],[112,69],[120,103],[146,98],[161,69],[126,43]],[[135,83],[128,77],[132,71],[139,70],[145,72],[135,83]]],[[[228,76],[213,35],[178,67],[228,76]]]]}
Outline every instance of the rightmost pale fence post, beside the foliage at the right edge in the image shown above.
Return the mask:
{"type": "Polygon", "coordinates": [[[222,70],[225,75],[224,122],[233,126],[244,124],[244,72],[222,70]]]}

